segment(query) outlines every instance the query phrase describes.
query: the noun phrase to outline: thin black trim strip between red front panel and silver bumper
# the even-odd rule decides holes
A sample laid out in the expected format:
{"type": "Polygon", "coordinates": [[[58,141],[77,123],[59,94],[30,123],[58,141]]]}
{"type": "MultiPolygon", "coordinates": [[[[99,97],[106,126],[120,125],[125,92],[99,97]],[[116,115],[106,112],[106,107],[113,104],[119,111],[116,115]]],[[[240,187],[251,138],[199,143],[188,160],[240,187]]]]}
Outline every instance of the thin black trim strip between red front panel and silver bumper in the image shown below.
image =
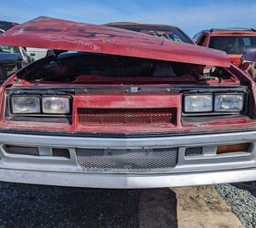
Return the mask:
{"type": "Polygon", "coordinates": [[[26,134],[26,135],[42,135],[42,136],[63,136],[63,137],[91,137],[91,138],[157,138],[172,136],[189,136],[189,135],[207,135],[221,133],[239,133],[245,131],[255,131],[256,128],[240,129],[240,130],[200,130],[200,131],[181,131],[181,132],[142,132],[142,133],[91,133],[91,132],[61,132],[61,131],[41,131],[41,130],[5,130],[0,129],[0,133],[8,134],[26,134]]]}

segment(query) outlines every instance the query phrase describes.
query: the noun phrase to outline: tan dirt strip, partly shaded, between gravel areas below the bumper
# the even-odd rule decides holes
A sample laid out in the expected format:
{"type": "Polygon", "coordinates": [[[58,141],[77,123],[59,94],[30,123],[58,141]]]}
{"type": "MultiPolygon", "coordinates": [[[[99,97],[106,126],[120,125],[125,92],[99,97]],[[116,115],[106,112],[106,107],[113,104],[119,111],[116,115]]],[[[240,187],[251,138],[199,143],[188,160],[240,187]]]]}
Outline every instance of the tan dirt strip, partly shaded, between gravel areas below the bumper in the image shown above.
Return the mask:
{"type": "Polygon", "coordinates": [[[139,226],[243,227],[214,186],[144,190],[139,205],[139,226]]]}

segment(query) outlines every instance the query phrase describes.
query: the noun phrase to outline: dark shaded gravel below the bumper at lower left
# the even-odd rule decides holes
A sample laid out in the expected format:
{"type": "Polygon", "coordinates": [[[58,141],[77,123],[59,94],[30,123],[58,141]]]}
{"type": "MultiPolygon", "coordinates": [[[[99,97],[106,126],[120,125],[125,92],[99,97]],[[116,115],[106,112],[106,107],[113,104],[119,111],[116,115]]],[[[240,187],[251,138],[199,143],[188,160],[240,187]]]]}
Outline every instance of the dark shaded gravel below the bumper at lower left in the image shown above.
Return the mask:
{"type": "Polygon", "coordinates": [[[137,227],[139,190],[0,182],[0,227],[137,227]]]}

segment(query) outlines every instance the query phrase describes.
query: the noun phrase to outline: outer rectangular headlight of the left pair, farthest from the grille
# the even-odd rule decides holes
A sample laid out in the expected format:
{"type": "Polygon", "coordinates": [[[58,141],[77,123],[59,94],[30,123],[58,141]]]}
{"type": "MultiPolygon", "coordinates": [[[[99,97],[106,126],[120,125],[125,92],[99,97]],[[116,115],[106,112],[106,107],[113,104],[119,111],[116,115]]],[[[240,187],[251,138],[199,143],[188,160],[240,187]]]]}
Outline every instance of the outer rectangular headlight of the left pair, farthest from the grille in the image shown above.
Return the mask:
{"type": "Polygon", "coordinates": [[[11,103],[15,114],[40,112],[40,98],[37,96],[13,96],[11,103]]]}

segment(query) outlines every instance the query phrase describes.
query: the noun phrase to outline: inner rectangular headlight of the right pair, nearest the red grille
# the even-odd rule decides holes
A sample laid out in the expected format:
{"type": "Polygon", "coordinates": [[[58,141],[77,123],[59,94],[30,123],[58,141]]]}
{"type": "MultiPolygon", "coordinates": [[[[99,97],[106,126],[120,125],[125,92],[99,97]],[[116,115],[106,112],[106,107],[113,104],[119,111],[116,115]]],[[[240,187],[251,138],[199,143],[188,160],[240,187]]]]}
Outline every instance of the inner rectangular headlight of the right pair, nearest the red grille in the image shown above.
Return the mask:
{"type": "Polygon", "coordinates": [[[207,112],[212,111],[212,95],[186,95],[185,96],[185,112],[207,112]]]}

